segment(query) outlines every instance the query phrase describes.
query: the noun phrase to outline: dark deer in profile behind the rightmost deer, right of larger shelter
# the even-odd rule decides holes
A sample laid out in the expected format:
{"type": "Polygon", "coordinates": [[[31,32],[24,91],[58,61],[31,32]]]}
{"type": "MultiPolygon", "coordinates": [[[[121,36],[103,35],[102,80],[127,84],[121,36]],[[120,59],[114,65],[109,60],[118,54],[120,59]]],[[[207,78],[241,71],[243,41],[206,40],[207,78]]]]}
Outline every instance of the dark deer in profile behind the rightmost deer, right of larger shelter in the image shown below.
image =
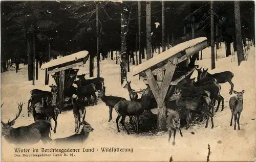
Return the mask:
{"type": "Polygon", "coordinates": [[[201,77],[202,78],[208,78],[208,77],[216,78],[216,80],[219,84],[228,82],[231,86],[229,94],[230,95],[232,94],[233,88],[234,88],[234,84],[231,81],[232,78],[234,77],[234,74],[232,72],[223,71],[223,72],[219,72],[219,73],[215,73],[215,74],[210,74],[210,73],[208,73],[208,68],[206,70],[203,68],[203,72],[201,74],[201,77]]]}

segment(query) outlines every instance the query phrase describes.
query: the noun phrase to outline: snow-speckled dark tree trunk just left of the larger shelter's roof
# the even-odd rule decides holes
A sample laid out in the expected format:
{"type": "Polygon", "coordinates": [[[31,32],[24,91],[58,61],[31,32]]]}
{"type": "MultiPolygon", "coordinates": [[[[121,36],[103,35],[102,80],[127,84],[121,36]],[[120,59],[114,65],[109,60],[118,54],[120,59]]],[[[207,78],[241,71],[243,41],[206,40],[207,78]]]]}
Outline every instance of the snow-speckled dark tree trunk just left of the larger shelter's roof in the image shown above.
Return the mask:
{"type": "Polygon", "coordinates": [[[126,53],[126,34],[127,34],[127,8],[123,6],[121,13],[121,85],[127,80],[127,53],[126,53]]]}

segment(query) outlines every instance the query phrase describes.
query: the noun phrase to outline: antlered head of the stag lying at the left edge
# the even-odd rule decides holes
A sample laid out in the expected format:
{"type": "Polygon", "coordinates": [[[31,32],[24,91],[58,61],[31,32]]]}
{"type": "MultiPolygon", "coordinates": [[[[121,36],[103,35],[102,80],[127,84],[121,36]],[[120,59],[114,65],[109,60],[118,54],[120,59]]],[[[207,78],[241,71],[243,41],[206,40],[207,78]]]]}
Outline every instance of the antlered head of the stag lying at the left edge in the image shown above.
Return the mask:
{"type": "MultiPolygon", "coordinates": [[[[4,104],[4,103],[3,103],[4,104]]],[[[3,105],[2,104],[2,105],[3,105]]],[[[22,106],[23,106],[23,103],[17,103],[18,104],[18,114],[16,115],[16,117],[10,121],[10,119],[8,120],[7,123],[4,123],[2,120],[1,120],[1,123],[2,123],[2,135],[5,137],[5,136],[9,136],[10,135],[10,132],[11,132],[11,126],[14,125],[15,123],[15,120],[19,117],[20,113],[22,113],[22,106]]],[[[2,107],[1,105],[1,107],[2,107]]]]}

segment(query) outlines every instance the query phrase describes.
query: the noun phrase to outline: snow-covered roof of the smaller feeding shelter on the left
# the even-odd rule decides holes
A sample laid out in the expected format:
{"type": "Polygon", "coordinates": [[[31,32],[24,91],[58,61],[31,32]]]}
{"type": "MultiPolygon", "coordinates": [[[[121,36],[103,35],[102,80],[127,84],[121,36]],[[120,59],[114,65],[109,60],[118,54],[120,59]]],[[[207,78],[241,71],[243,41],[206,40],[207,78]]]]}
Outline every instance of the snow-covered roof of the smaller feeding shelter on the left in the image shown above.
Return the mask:
{"type": "Polygon", "coordinates": [[[50,68],[50,67],[53,67],[53,66],[57,66],[57,65],[60,65],[60,64],[64,64],[64,63],[68,63],[68,62],[71,62],[71,61],[75,61],[75,60],[78,60],[78,59],[85,58],[88,55],[88,53],[89,52],[87,50],[82,50],[82,51],[73,53],[71,55],[49,61],[45,64],[42,64],[41,69],[47,69],[47,68],[50,68]]]}

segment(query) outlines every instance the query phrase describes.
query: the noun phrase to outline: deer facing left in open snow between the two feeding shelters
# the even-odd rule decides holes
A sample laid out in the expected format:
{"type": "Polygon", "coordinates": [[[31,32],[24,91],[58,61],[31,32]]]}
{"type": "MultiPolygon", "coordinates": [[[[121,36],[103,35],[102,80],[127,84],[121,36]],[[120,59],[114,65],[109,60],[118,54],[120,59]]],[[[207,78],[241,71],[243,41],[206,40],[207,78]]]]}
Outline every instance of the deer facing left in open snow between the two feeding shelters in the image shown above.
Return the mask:
{"type": "MultiPolygon", "coordinates": [[[[123,97],[117,97],[117,96],[106,96],[105,90],[98,93],[98,97],[106,104],[106,106],[109,106],[109,122],[112,120],[112,111],[115,104],[119,101],[126,100],[123,97]]],[[[130,124],[132,119],[130,118],[130,124]]]]}

